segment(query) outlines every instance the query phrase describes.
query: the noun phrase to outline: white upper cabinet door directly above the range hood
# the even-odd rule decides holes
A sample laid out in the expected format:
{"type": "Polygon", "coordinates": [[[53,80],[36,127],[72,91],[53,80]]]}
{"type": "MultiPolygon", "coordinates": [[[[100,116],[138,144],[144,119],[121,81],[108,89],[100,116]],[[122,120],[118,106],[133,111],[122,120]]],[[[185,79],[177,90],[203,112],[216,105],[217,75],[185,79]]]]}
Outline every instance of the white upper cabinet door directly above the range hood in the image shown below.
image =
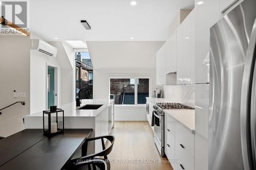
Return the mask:
{"type": "Polygon", "coordinates": [[[177,71],[176,58],[177,58],[177,33],[175,32],[166,41],[165,74],[169,74],[177,71]]]}

